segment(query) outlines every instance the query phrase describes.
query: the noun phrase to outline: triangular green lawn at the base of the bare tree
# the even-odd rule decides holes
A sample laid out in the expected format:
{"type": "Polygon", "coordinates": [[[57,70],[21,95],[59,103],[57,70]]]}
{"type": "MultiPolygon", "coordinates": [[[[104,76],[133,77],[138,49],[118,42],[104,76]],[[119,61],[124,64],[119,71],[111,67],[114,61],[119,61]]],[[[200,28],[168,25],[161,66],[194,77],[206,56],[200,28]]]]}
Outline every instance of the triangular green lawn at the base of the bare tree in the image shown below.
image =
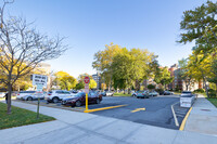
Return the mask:
{"type": "Polygon", "coordinates": [[[8,115],[7,104],[0,103],[0,130],[51,120],[55,120],[55,118],[40,114],[39,119],[37,119],[35,112],[26,110],[15,106],[12,106],[12,114],[8,115]]]}

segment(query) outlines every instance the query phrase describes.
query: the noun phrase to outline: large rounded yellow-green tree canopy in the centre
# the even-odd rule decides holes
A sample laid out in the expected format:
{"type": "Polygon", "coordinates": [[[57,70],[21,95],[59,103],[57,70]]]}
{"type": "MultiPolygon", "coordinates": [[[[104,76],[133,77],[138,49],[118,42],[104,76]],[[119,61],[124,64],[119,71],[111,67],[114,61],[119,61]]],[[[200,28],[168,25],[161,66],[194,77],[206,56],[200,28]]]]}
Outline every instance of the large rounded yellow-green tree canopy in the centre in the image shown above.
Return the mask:
{"type": "MultiPolygon", "coordinates": [[[[148,50],[122,48],[111,43],[104,51],[94,54],[93,68],[102,74],[102,80],[108,88],[133,88],[135,82],[141,82],[153,77],[156,67],[156,55],[148,50]]],[[[158,66],[158,65],[157,65],[158,66]]]]}

